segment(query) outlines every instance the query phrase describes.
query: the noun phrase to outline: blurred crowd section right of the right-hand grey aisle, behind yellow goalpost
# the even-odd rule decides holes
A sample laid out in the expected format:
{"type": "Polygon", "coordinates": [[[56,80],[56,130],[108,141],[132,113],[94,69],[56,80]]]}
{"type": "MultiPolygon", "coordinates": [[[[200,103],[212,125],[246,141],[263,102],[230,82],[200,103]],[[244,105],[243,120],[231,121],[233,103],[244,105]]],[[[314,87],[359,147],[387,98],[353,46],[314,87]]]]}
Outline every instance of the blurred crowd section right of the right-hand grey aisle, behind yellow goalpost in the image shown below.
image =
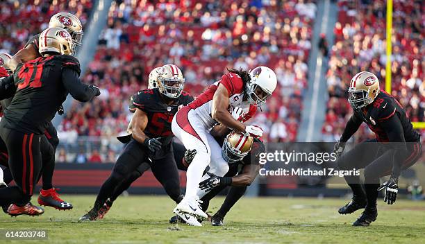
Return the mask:
{"type": "MultiPolygon", "coordinates": [[[[328,61],[329,100],[322,128],[324,141],[338,140],[352,114],[347,102],[349,80],[360,71],[371,71],[385,87],[386,1],[338,1],[335,44],[328,61]]],[[[394,1],[392,38],[392,95],[411,121],[425,121],[425,6],[421,1],[394,1]]],[[[374,137],[365,124],[356,141],[374,137]]],[[[422,130],[424,141],[425,130],[422,130]]]]}

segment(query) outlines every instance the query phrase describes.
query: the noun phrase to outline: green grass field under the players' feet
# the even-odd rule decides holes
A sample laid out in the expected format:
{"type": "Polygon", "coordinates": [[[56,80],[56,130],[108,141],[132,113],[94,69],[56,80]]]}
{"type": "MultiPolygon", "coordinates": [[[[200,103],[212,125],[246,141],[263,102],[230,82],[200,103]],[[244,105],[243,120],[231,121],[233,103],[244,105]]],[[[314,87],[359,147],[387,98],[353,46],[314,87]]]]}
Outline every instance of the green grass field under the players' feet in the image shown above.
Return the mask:
{"type": "MultiPolygon", "coordinates": [[[[425,243],[425,202],[378,203],[378,220],[352,227],[360,211],[340,216],[347,200],[317,198],[242,198],[224,227],[170,225],[174,202],[163,196],[119,198],[106,218],[78,223],[93,195],[64,195],[72,211],[46,208],[39,217],[2,214],[0,229],[47,229],[42,243],[425,243]]],[[[223,198],[210,204],[216,211],[223,198]]],[[[0,239],[0,243],[11,243],[0,239]]],[[[15,241],[35,243],[37,241],[15,241]]],[[[41,242],[41,241],[38,241],[41,242]]]]}

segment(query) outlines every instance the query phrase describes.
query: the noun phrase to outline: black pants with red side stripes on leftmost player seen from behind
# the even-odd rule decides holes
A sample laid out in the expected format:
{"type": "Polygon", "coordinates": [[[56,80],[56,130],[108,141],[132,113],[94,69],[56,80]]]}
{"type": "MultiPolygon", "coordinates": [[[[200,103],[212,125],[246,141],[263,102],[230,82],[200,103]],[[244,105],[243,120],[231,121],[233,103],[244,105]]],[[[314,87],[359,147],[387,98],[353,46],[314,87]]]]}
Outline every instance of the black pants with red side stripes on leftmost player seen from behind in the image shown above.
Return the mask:
{"type": "MultiPolygon", "coordinates": [[[[0,189],[0,205],[15,203],[23,206],[31,199],[33,189],[41,176],[42,136],[1,128],[0,137],[6,143],[8,167],[16,183],[16,186],[0,189]]],[[[43,140],[44,145],[53,150],[47,140],[43,140]]],[[[44,160],[53,160],[54,163],[54,157],[45,157],[44,160]]]]}

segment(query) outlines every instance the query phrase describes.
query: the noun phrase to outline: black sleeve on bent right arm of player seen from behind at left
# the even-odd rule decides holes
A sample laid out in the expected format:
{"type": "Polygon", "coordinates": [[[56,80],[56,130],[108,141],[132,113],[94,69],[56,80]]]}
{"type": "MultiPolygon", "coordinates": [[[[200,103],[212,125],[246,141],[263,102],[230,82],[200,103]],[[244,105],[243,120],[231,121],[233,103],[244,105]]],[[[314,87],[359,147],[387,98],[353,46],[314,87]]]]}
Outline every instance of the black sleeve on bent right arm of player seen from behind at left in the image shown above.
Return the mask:
{"type": "Polygon", "coordinates": [[[69,94],[78,101],[87,102],[96,95],[96,90],[93,87],[83,84],[74,69],[64,68],[62,71],[62,81],[69,94]]]}

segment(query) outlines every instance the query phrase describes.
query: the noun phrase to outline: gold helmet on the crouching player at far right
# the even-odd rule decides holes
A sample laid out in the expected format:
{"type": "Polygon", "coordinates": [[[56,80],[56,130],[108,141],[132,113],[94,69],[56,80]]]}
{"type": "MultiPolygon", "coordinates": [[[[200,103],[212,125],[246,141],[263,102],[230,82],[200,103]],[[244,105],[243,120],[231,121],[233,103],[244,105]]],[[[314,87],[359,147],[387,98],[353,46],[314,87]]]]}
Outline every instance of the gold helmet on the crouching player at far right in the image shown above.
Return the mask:
{"type": "Polygon", "coordinates": [[[357,73],[351,79],[348,92],[349,103],[353,109],[358,110],[374,102],[380,92],[379,80],[373,73],[367,71],[357,73]]]}

